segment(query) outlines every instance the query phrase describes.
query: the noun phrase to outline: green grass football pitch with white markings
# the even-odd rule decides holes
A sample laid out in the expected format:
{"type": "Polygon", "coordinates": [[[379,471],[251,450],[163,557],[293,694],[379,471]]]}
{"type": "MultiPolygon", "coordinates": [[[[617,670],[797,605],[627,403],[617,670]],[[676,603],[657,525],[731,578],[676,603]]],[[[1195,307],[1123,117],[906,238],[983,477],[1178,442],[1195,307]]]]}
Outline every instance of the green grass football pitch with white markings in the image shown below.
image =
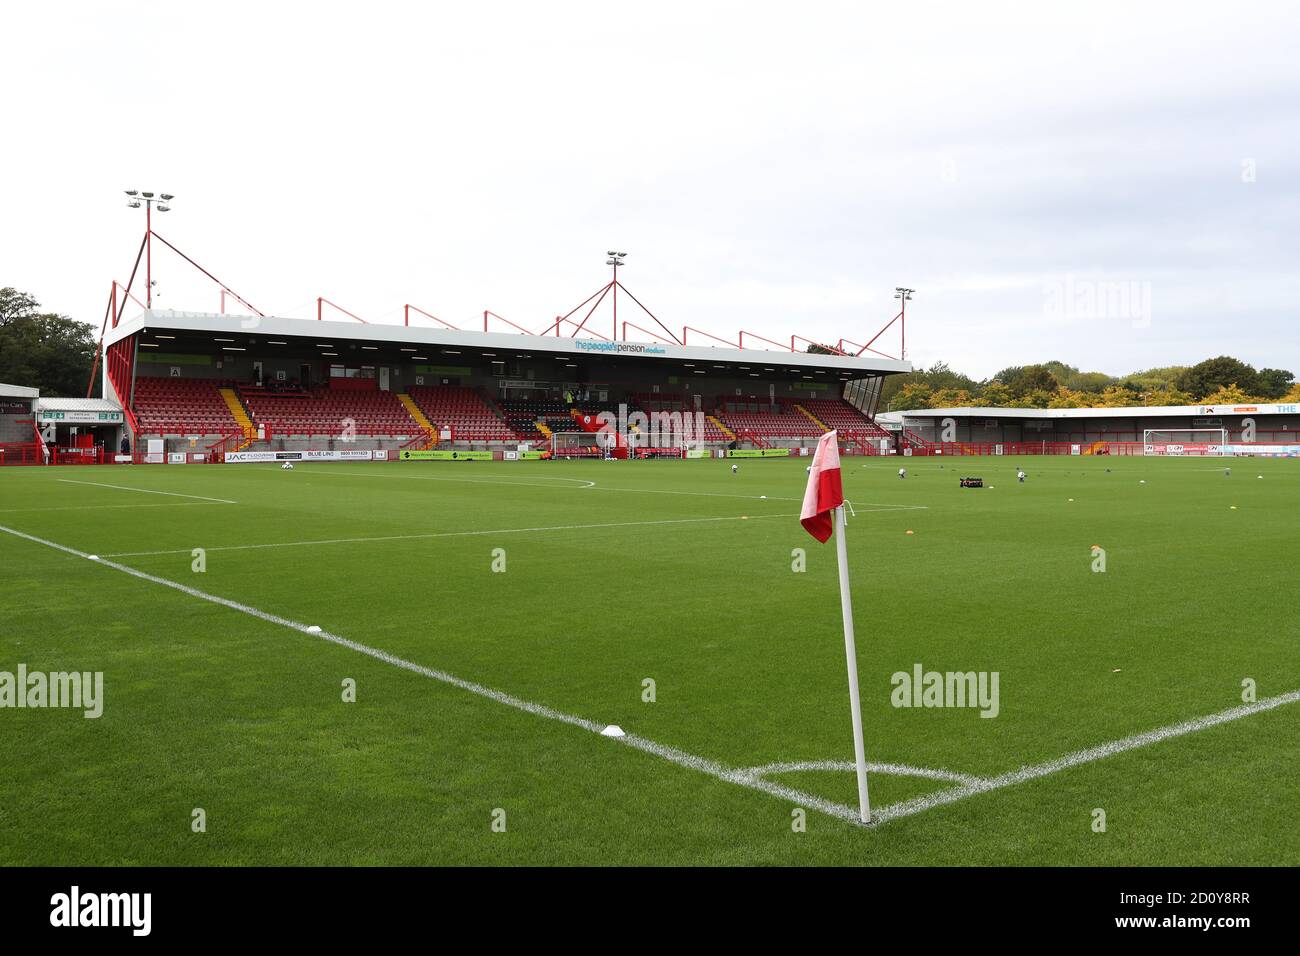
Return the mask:
{"type": "MultiPolygon", "coordinates": [[[[1260,701],[1300,689],[1300,462],[845,458],[844,475],[874,763],[996,779],[1240,708],[1247,679],[1260,701]],[[893,706],[890,675],[916,663],[996,671],[997,717],[893,706]]],[[[103,671],[105,689],[98,719],[0,710],[0,862],[1300,860],[1294,702],[933,806],[959,784],[875,771],[874,808],[922,806],[871,827],[803,806],[801,832],[800,799],[685,765],[805,765],[763,779],[855,806],[852,773],[806,766],[853,744],[835,549],[798,524],[805,479],[775,459],[3,470],[0,525],[73,551],[0,533],[0,671],[103,671]]]]}

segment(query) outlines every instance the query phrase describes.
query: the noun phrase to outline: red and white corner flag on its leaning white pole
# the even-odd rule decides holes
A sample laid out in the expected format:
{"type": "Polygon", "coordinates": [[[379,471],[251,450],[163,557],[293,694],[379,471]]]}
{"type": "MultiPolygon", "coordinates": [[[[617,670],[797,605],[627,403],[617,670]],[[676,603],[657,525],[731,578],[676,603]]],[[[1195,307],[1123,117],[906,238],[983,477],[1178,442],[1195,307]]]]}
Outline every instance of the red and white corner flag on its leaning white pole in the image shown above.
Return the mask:
{"type": "Polygon", "coordinates": [[[840,613],[844,617],[844,654],[849,662],[849,706],[853,710],[853,756],[858,770],[858,812],[871,822],[867,797],[867,752],[862,743],[862,701],[858,695],[858,652],[853,643],[853,598],[849,596],[849,550],[844,542],[844,484],[840,476],[840,436],[827,432],[816,444],[809,486],[803,490],[800,524],[823,544],[831,537],[832,516],[840,564],[840,613]]]}

